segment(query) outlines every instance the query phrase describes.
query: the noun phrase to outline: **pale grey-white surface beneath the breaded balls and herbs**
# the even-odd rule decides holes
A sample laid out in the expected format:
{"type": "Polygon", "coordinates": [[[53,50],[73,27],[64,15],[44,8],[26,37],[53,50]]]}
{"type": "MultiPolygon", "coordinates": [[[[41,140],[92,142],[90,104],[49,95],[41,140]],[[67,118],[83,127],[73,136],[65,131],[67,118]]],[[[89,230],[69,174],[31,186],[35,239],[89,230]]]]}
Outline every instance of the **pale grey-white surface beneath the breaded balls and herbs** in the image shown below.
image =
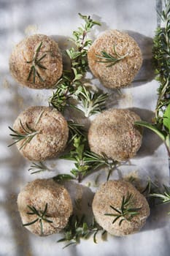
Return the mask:
{"type": "MultiPolygon", "coordinates": [[[[80,26],[82,20],[77,13],[92,15],[102,23],[101,28],[91,34],[94,38],[99,31],[120,29],[131,31],[142,48],[144,65],[136,79],[142,83],[133,83],[123,90],[123,97],[115,101],[113,94],[109,106],[118,108],[136,108],[144,120],[151,120],[155,108],[158,83],[152,80],[150,63],[152,37],[157,26],[154,0],[0,0],[0,255],[1,256],[55,256],[55,255],[98,255],[98,256],[168,256],[170,249],[169,207],[154,208],[147,225],[140,233],[125,238],[108,236],[108,241],[93,244],[92,238],[81,241],[78,246],[62,249],[63,244],[56,244],[58,235],[39,238],[29,233],[20,222],[17,209],[17,195],[20,188],[34,178],[46,178],[55,173],[69,170],[67,162],[56,162],[56,171],[31,176],[28,173],[30,163],[20,156],[11,143],[8,126],[21,110],[30,105],[47,105],[47,98],[52,91],[35,91],[22,88],[9,75],[8,60],[12,47],[28,34],[41,33],[55,36],[72,36],[72,31],[80,26]]],[[[56,37],[59,38],[59,37],[56,37]]],[[[63,41],[59,42],[62,44],[63,41]]],[[[99,85],[97,80],[94,80],[99,85]]],[[[164,146],[161,141],[144,132],[142,148],[131,160],[131,167],[122,167],[123,175],[137,171],[139,176],[157,177],[159,181],[169,182],[169,167],[164,146]]],[[[93,183],[96,174],[84,181],[93,183]]],[[[116,178],[112,176],[112,178],[116,178]]]]}

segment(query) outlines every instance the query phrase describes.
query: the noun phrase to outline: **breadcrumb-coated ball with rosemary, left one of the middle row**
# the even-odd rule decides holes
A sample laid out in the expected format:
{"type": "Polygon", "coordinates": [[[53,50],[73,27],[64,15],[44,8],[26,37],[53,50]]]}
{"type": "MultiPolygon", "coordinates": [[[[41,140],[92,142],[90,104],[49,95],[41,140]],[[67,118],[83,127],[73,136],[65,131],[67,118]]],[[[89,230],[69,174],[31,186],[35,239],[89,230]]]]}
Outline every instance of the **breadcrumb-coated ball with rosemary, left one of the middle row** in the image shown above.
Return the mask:
{"type": "Polygon", "coordinates": [[[58,156],[69,138],[66,119],[49,107],[27,108],[15,120],[13,129],[23,135],[16,143],[20,154],[31,161],[58,156]]]}

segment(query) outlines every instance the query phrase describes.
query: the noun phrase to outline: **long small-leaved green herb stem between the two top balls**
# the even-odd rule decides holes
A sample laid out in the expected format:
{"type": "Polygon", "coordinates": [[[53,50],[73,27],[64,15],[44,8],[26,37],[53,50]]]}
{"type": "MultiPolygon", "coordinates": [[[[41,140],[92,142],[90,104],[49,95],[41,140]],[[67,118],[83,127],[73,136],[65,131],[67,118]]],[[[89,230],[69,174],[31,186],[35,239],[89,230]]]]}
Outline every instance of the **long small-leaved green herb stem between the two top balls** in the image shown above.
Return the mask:
{"type": "MultiPolygon", "coordinates": [[[[87,35],[93,26],[100,25],[97,21],[92,20],[90,16],[81,15],[80,13],[79,15],[80,18],[85,20],[85,24],[79,27],[77,31],[73,31],[71,40],[76,47],[66,50],[66,55],[69,57],[71,63],[71,69],[63,72],[61,80],[56,84],[56,91],[53,92],[53,96],[49,99],[50,105],[53,105],[54,108],[57,108],[61,112],[64,111],[66,106],[76,108],[72,105],[70,99],[80,100],[78,95],[82,91],[82,78],[88,70],[88,48],[92,44],[92,41],[87,38],[87,35]]],[[[103,102],[101,102],[102,104],[103,102]]],[[[98,106],[97,108],[99,109],[98,106]]]]}

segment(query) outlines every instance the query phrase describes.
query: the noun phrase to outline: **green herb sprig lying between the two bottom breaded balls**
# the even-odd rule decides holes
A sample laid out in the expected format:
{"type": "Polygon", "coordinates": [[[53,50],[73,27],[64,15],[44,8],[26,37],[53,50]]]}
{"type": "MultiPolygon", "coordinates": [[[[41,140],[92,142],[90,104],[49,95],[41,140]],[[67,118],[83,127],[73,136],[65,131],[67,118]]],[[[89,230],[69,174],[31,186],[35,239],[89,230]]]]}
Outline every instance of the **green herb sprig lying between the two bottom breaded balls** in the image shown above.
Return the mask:
{"type": "MultiPolygon", "coordinates": [[[[72,215],[69,219],[68,225],[64,228],[64,237],[58,240],[58,243],[65,241],[69,242],[69,244],[66,244],[66,246],[63,247],[66,248],[70,245],[79,244],[81,238],[88,239],[92,235],[94,243],[97,243],[96,235],[101,230],[102,228],[98,226],[95,220],[93,220],[91,225],[88,225],[88,223],[85,222],[85,216],[77,217],[72,215]]],[[[101,236],[105,233],[105,230],[102,231],[101,236]]]]}

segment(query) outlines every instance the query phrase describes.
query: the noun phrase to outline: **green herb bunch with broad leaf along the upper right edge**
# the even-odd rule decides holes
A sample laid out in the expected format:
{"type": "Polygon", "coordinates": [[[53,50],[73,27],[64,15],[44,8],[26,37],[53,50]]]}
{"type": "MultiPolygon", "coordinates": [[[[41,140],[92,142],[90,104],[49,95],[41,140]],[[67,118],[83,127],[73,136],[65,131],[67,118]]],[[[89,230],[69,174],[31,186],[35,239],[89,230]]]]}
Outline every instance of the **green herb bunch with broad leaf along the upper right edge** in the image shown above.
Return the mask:
{"type": "Polygon", "coordinates": [[[153,39],[153,61],[156,79],[159,81],[158,101],[153,124],[136,121],[136,125],[147,127],[165,143],[170,158],[170,1],[165,1],[165,10],[160,14],[163,26],[158,27],[153,39]]]}

